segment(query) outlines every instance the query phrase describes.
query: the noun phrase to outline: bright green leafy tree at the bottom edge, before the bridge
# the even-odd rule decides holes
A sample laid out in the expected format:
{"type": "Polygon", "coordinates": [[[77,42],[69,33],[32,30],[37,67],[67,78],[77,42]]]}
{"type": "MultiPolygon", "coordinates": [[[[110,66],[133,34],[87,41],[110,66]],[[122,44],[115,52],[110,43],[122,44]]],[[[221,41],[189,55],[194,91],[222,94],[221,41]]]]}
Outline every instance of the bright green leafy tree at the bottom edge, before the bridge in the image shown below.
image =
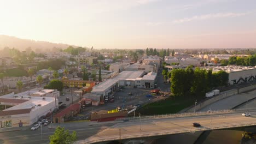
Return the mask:
{"type": "Polygon", "coordinates": [[[69,131],[64,127],[58,126],[49,139],[50,144],[71,144],[77,140],[77,132],[73,131],[72,134],[69,134],[69,131]]]}

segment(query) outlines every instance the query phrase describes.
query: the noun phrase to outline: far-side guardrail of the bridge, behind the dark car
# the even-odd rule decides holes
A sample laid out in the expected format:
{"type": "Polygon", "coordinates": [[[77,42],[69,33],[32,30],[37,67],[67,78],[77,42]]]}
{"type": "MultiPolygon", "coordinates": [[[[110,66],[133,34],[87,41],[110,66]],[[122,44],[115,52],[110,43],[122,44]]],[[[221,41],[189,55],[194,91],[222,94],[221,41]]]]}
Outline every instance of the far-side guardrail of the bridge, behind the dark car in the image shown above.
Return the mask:
{"type": "Polygon", "coordinates": [[[239,113],[239,112],[251,112],[256,111],[253,109],[237,109],[237,110],[219,110],[219,111],[204,111],[204,112],[193,112],[193,113],[176,113],[176,114],[164,114],[164,115],[151,115],[151,116],[137,116],[137,117],[126,117],[117,118],[115,121],[140,121],[147,119],[159,119],[159,118],[177,118],[177,117],[193,117],[193,116],[205,116],[205,115],[221,115],[225,113],[239,113]]]}

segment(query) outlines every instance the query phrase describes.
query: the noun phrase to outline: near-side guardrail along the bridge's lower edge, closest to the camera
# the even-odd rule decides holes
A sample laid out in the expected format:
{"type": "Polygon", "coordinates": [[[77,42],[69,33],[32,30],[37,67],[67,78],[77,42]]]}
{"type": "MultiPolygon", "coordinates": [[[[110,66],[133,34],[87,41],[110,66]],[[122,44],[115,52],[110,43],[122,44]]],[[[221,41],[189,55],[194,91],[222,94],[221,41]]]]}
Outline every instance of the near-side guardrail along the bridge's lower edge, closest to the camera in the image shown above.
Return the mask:
{"type": "MultiPolygon", "coordinates": [[[[243,123],[236,123],[236,124],[220,124],[220,125],[212,125],[211,127],[201,127],[201,128],[183,128],[178,130],[160,130],[160,131],[149,131],[143,132],[139,131],[139,133],[132,133],[132,134],[122,134],[121,139],[134,139],[137,137],[149,137],[149,136],[160,136],[160,135],[170,135],[170,134],[181,134],[181,133],[195,133],[195,131],[205,131],[205,130],[216,130],[216,129],[226,129],[226,128],[237,128],[237,127],[247,127],[256,125],[256,122],[243,122],[243,123]]],[[[119,140],[119,135],[117,136],[94,136],[91,139],[85,139],[83,141],[78,141],[75,143],[95,143],[95,142],[102,142],[102,141],[111,141],[111,140],[119,140]]]]}

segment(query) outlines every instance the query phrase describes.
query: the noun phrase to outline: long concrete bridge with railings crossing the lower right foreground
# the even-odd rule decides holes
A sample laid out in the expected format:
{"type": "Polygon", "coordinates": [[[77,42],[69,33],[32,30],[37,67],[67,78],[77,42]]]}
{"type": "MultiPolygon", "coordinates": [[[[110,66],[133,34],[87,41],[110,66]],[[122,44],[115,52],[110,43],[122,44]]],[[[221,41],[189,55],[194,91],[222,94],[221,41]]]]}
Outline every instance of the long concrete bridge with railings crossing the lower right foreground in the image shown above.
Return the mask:
{"type": "Polygon", "coordinates": [[[217,129],[230,129],[256,125],[256,109],[207,111],[119,119],[119,123],[108,127],[85,140],[76,143],[95,143],[139,137],[195,133],[217,129]],[[241,116],[250,112],[252,116],[241,116]],[[124,120],[126,122],[124,122],[124,120]],[[201,127],[193,127],[193,123],[201,127]]]}

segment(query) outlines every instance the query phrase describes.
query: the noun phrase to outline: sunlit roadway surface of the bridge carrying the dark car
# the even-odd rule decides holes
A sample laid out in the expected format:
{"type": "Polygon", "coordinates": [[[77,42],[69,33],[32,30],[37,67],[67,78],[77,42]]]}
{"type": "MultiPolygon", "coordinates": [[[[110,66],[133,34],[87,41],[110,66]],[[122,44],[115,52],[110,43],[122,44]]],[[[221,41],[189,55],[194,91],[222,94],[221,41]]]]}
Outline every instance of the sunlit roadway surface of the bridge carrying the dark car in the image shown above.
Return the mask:
{"type": "MultiPolygon", "coordinates": [[[[158,120],[125,122],[118,123],[109,127],[100,133],[91,136],[88,140],[119,140],[119,128],[121,129],[121,136],[125,138],[150,136],[150,135],[165,135],[175,133],[187,133],[191,131],[216,129],[219,125],[237,124],[239,123],[255,123],[256,111],[251,112],[251,117],[241,116],[241,113],[229,113],[223,115],[207,115],[207,116],[195,116],[195,117],[183,117],[183,118],[167,118],[158,120]],[[211,120],[212,119],[212,120],[211,120]],[[192,123],[197,122],[202,127],[194,128],[192,123]],[[215,127],[215,128],[214,128],[215,127]],[[141,128],[141,129],[140,129],[141,128]]],[[[256,123],[255,123],[256,124],[256,123]]],[[[78,143],[86,143],[85,141],[79,141],[78,143]]]]}

